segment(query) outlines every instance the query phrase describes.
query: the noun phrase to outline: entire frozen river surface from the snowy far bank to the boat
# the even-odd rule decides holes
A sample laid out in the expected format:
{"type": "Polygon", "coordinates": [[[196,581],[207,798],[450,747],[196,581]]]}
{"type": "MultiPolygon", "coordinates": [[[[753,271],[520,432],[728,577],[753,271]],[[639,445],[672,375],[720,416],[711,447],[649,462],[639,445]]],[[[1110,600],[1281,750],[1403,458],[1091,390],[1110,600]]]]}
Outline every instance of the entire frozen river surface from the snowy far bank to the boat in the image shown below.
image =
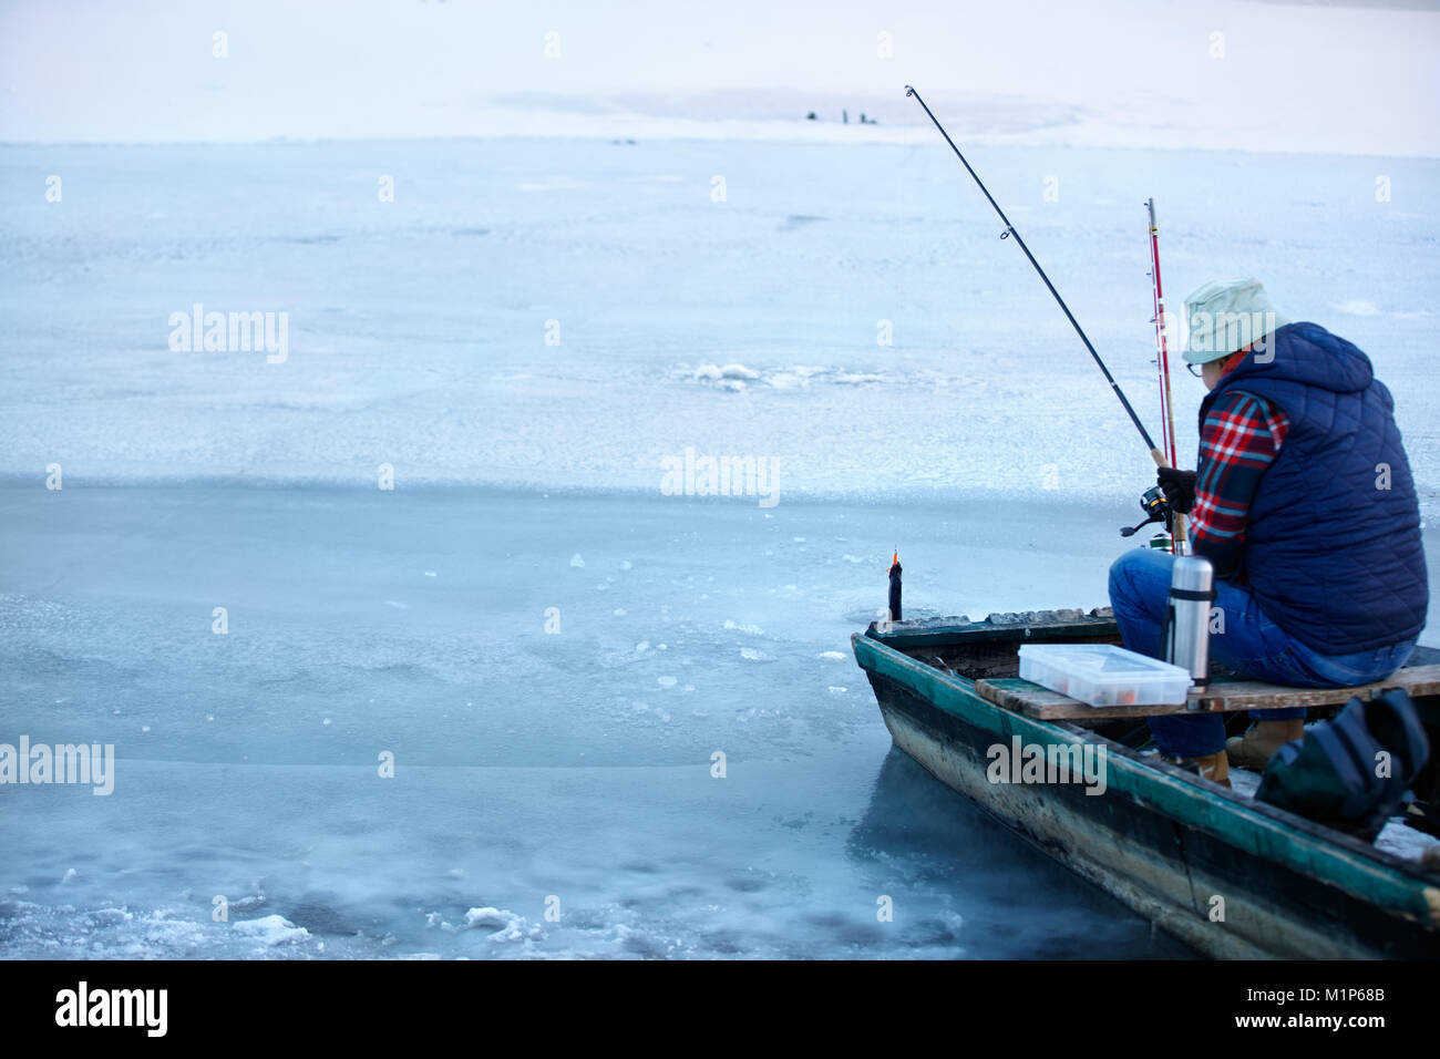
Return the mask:
{"type": "MultiPolygon", "coordinates": [[[[971,157],[1152,426],[1151,195],[1172,298],[1256,274],[1374,357],[1433,516],[1440,163],[971,157]]],[[[909,615],[1104,604],[1153,481],[943,144],[7,146],[0,192],[0,742],[117,755],[0,787],[0,955],[1184,954],[850,656],[896,546],[909,615]],[[285,357],[171,349],[196,304],[285,357]],[[775,506],[667,494],[687,450],[775,506]]]]}

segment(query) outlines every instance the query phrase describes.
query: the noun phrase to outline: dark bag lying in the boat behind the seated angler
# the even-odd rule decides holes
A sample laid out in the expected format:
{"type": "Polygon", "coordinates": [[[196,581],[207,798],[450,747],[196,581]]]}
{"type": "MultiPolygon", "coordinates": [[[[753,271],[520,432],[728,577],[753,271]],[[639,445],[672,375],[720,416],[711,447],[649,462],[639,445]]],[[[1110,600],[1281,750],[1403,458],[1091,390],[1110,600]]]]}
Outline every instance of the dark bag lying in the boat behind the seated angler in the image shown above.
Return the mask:
{"type": "Polygon", "coordinates": [[[1404,689],[1355,697],[1333,720],[1276,751],[1256,800],[1374,841],[1414,801],[1408,788],[1428,758],[1430,741],[1404,689]],[[1390,775],[1378,775],[1382,752],[1390,775]]]}

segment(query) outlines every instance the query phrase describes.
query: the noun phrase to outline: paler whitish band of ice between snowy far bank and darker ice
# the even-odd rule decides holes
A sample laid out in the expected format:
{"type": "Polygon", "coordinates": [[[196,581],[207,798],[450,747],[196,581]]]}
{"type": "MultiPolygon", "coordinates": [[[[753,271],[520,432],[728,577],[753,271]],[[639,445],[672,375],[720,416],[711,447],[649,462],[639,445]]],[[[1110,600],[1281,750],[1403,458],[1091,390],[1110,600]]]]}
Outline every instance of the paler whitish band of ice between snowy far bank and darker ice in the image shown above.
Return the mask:
{"type": "MultiPolygon", "coordinates": [[[[1433,517],[1440,163],[1018,147],[972,161],[1152,432],[1151,195],[1172,304],[1254,274],[1292,317],[1369,353],[1433,517]]],[[[7,147],[0,192],[0,474],[27,484],[58,463],[76,486],[363,488],[387,464],[397,490],[654,491],[687,450],[772,460],[782,503],[1126,506],[1152,484],[1103,377],[943,144],[7,147]],[[521,190],[557,170],[585,186],[521,190]],[[50,171],[62,203],[30,190],[50,171]],[[376,173],[396,176],[395,203],[376,173]],[[665,173],[683,179],[652,179],[665,173]],[[816,219],[789,226],[801,212],[816,219]],[[288,360],[171,353],[168,317],[196,303],[288,313],[288,360]]],[[[1194,452],[1201,383],[1176,370],[1194,452]]]]}

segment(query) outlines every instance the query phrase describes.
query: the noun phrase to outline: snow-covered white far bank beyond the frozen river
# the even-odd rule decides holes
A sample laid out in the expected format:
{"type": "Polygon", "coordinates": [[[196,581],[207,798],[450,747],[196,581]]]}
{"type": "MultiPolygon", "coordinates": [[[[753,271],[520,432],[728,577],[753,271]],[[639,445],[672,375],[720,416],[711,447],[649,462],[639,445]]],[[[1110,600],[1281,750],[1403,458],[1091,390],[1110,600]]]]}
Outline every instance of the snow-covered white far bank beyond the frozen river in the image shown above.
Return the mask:
{"type": "Polygon", "coordinates": [[[835,135],[793,121],[841,107],[893,137],[923,121],[907,82],[968,135],[1440,156],[1436,10],[0,0],[7,141],[835,135]],[[543,53],[550,30],[559,59],[543,53]],[[881,30],[891,59],[877,56],[881,30]]]}

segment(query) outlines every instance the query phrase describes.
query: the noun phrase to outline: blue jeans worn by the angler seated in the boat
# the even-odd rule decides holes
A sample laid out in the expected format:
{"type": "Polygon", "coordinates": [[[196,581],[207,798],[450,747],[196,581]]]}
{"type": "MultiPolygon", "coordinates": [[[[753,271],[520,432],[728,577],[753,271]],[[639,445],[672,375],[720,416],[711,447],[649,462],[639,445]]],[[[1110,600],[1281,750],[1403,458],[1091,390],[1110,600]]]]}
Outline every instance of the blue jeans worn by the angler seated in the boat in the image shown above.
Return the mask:
{"type": "MultiPolygon", "coordinates": [[[[1125,645],[1152,658],[1161,654],[1171,566],[1175,556],[1136,548],[1110,566],[1110,607],[1125,645]]],[[[1416,640],[1355,654],[1328,656],[1306,647],[1260,609],[1246,585],[1215,582],[1215,607],[1224,633],[1210,637],[1210,657],[1221,666],[1259,680],[1292,687],[1346,687],[1382,680],[1405,664],[1416,640]]],[[[1303,719],[1305,709],[1250,710],[1256,720],[1303,719]]],[[[1202,758],[1225,748],[1225,720],[1220,713],[1175,713],[1151,718],[1151,733],[1169,758],[1202,758]]]]}

